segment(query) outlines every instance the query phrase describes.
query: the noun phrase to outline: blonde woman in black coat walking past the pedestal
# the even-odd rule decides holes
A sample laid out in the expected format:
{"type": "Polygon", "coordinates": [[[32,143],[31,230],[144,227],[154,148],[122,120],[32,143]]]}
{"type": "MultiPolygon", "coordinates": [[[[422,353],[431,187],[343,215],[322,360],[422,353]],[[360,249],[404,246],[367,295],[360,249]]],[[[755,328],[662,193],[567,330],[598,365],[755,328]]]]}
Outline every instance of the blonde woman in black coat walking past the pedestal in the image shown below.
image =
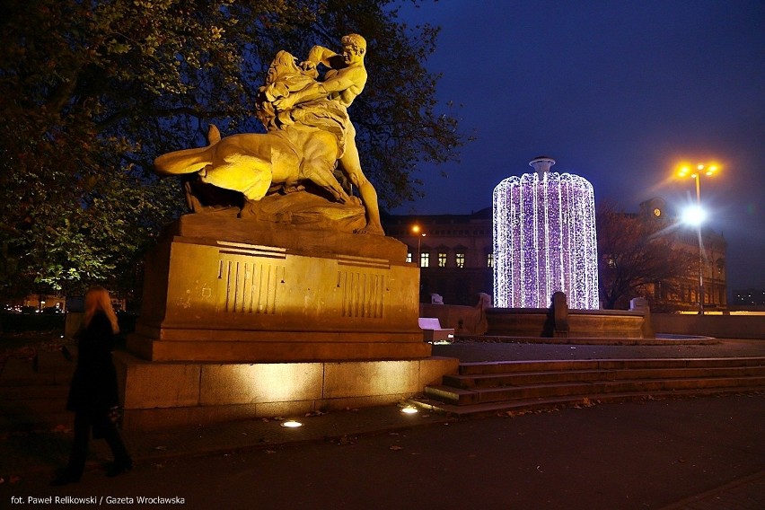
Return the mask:
{"type": "Polygon", "coordinates": [[[111,359],[118,332],[109,293],[101,286],[92,287],[85,295],[83,327],[77,334],[77,367],[66,401],[66,409],[75,411],[75,442],[66,469],[53,485],[76,482],[83,476],[91,430],[93,437],[106,440],[114,455],[107,476],[117,476],[133,467],[110,418],[111,409],[118,405],[117,370],[111,359]]]}

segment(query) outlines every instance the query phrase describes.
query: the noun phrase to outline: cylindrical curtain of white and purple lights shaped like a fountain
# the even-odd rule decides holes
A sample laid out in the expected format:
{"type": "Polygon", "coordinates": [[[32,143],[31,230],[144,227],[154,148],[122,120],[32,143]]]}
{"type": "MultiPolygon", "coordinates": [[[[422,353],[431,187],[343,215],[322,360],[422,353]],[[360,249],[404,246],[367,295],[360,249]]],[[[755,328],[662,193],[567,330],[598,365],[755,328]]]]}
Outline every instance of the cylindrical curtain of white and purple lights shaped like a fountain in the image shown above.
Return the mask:
{"type": "Polygon", "coordinates": [[[598,303],[595,199],[588,180],[550,172],[555,160],[529,163],[536,173],[494,189],[494,300],[501,308],[548,308],[563,291],[568,307],[598,303]]]}

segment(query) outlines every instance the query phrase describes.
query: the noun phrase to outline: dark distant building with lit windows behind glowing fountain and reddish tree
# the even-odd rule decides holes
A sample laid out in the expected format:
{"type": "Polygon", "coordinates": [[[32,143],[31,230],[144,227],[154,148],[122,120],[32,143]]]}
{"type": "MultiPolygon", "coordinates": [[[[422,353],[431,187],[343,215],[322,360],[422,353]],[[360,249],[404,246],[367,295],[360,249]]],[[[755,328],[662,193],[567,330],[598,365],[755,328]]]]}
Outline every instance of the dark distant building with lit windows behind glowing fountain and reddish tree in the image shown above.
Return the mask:
{"type": "MultiPolygon", "coordinates": [[[[668,217],[664,200],[653,198],[629,216],[643,221],[677,223],[668,217]]],[[[431,295],[443,297],[446,304],[475,305],[479,293],[493,296],[494,254],[492,208],[470,215],[382,215],[385,233],[409,247],[408,261],[418,261],[420,302],[431,303],[431,295]],[[413,230],[414,227],[417,227],[413,230]]],[[[699,253],[695,230],[676,229],[673,243],[691,253],[699,253]]],[[[702,230],[700,269],[704,283],[704,309],[727,309],[725,238],[709,229],[702,230]]],[[[601,262],[602,263],[602,262],[601,262]]],[[[679,281],[656,282],[641,289],[643,297],[663,310],[699,309],[699,270],[694,266],[689,277],[679,281]]],[[[637,297],[633,296],[633,297],[637,297]]]]}

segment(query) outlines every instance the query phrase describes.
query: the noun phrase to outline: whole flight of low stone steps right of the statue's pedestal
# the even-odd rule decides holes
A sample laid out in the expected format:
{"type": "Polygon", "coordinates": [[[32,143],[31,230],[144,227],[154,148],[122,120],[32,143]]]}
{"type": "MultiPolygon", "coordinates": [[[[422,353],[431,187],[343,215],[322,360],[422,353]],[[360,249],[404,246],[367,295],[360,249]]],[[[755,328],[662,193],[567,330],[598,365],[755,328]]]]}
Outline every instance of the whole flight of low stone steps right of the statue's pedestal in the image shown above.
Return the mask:
{"type": "Polygon", "coordinates": [[[765,391],[765,357],[462,363],[419,406],[458,417],[600,402],[765,391]]]}

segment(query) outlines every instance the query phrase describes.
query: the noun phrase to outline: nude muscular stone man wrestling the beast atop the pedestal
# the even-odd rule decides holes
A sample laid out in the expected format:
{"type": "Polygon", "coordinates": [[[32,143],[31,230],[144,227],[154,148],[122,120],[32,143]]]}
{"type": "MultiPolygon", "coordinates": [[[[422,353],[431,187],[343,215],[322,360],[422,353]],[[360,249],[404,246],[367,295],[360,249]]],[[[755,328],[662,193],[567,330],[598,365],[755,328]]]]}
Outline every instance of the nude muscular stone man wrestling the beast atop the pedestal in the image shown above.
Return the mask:
{"type": "MultiPolygon", "coordinates": [[[[320,63],[330,68],[322,82],[313,82],[298,91],[290,91],[286,96],[273,101],[278,110],[292,110],[295,105],[318,99],[329,99],[339,104],[346,112],[347,107],[364,90],[366,84],[366,40],[358,34],[349,34],[341,40],[343,53],[321,46],[314,46],[308,53],[308,58],[301,63],[305,71],[318,75],[316,66],[320,63]]],[[[361,161],[356,148],[356,129],[350,119],[345,117],[344,151],[339,157],[339,167],[354,184],[361,195],[361,201],[366,209],[366,227],[364,233],[383,234],[380,223],[380,209],[377,205],[377,191],[361,170],[361,161]]]]}

